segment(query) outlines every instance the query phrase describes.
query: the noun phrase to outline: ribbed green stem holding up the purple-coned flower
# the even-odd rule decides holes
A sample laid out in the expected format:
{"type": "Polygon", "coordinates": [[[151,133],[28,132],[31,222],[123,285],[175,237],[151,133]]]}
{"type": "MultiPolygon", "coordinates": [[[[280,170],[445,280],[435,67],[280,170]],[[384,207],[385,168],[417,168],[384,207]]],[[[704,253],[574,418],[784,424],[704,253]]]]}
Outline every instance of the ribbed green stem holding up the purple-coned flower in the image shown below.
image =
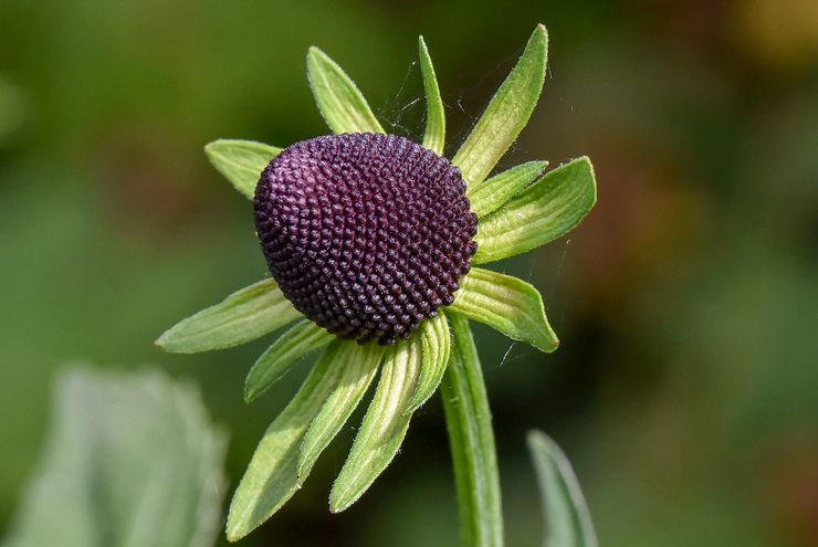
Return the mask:
{"type": "Polygon", "coordinates": [[[462,544],[503,545],[500,476],[489,399],[469,320],[449,314],[452,356],[440,385],[458,488],[462,544]]]}

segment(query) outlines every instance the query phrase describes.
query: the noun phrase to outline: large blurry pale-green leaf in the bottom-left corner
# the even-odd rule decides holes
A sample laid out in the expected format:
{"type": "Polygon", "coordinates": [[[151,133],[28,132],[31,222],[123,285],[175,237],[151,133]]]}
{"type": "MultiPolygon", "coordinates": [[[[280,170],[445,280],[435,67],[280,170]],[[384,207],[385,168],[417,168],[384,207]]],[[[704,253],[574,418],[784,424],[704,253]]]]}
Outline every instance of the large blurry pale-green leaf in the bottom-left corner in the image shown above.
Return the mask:
{"type": "Polygon", "coordinates": [[[73,368],[3,547],[207,547],[221,529],[226,436],[158,370],[73,368]]]}

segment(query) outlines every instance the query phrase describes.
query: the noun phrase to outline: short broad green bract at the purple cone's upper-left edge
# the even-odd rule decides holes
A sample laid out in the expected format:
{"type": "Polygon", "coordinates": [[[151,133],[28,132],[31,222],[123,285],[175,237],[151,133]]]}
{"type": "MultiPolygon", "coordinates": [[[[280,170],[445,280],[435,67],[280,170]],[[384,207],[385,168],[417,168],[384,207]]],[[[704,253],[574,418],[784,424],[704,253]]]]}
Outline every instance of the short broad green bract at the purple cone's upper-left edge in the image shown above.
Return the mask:
{"type": "Polygon", "coordinates": [[[219,139],[204,147],[213,167],[250,199],[255,197],[261,171],[279,152],[281,148],[253,140],[219,139]]]}

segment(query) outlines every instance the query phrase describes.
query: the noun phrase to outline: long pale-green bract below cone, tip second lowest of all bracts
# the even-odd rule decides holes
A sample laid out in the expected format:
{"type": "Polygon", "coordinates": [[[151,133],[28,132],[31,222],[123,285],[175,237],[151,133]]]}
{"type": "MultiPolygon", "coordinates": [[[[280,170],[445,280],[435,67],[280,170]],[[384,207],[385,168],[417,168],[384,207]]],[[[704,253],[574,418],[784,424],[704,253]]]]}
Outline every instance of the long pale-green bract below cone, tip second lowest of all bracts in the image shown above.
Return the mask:
{"type": "Polygon", "coordinates": [[[354,504],[389,465],[403,442],[411,414],[406,412],[421,367],[418,337],[387,351],[373,402],[364,417],[349,456],[329,493],[329,511],[354,504]]]}

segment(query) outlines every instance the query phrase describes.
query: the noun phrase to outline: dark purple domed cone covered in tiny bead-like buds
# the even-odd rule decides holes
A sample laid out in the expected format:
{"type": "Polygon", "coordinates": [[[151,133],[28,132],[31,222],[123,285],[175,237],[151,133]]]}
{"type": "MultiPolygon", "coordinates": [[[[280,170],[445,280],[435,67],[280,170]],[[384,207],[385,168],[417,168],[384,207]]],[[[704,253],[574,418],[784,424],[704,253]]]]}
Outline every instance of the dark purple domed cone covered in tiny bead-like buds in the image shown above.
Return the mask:
{"type": "Polygon", "coordinates": [[[318,137],[255,189],[270,272],[308,318],[360,344],[408,338],[451,304],[478,249],[460,171],[403,137],[318,137]]]}

